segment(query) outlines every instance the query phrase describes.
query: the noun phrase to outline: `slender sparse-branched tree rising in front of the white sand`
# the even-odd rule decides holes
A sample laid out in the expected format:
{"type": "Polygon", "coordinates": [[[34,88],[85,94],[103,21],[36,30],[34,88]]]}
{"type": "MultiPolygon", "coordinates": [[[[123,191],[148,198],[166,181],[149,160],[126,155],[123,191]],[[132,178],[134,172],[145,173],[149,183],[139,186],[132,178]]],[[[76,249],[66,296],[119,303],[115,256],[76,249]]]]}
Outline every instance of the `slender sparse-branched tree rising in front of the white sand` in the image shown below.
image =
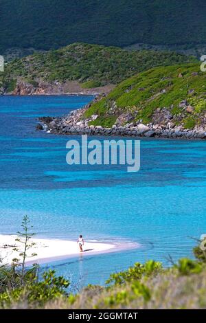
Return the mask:
{"type": "Polygon", "coordinates": [[[33,226],[30,224],[30,219],[27,215],[23,217],[21,227],[23,228],[23,232],[17,232],[18,238],[16,238],[15,241],[21,243],[22,247],[15,247],[13,249],[14,251],[19,253],[20,258],[14,258],[12,259],[12,261],[14,267],[21,267],[21,283],[23,283],[23,276],[25,274],[25,260],[26,258],[32,258],[36,256],[35,253],[32,253],[32,255],[28,256],[27,251],[34,247],[36,243],[30,242],[30,239],[35,235],[35,233],[30,232],[33,226]]]}

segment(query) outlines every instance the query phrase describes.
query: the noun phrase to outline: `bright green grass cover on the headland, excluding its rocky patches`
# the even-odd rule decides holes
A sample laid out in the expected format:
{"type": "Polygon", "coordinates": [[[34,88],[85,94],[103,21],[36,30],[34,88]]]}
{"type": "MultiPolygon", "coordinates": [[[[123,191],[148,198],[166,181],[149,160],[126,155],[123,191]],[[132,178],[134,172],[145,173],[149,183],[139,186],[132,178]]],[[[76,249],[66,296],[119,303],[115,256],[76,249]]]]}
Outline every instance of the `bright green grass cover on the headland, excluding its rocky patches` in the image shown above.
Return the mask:
{"type": "Polygon", "coordinates": [[[167,108],[178,120],[183,113],[179,104],[187,100],[194,107],[194,112],[183,122],[186,128],[193,128],[199,115],[206,111],[205,87],[206,73],[200,70],[199,64],[156,67],[124,80],[106,98],[93,104],[85,115],[98,114],[95,124],[111,126],[123,112],[134,114],[135,120],[150,122],[157,108],[167,108]],[[193,92],[189,93],[190,90],[193,92]],[[115,118],[108,113],[113,101],[117,104],[115,118]]]}

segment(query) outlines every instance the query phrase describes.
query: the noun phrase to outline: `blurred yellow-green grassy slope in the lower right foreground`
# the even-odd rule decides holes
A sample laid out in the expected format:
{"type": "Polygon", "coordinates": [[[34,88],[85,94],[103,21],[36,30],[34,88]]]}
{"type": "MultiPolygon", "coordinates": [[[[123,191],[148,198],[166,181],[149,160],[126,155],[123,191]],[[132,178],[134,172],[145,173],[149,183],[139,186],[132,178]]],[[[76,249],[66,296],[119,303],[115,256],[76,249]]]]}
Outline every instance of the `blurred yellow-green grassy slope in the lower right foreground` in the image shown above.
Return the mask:
{"type": "Polygon", "coordinates": [[[56,300],[47,309],[205,309],[206,271],[181,276],[176,271],[104,289],[90,287],[73,304],[56,300]]]}

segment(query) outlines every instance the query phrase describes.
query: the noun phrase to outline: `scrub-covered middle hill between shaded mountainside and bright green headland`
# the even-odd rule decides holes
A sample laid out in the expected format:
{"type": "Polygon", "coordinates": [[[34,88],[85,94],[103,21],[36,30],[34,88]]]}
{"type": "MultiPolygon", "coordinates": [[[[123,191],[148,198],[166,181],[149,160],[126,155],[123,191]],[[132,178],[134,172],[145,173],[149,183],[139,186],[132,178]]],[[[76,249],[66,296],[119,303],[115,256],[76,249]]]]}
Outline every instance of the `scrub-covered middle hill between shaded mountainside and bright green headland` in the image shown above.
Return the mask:
{"type": "Polygon", "coordinates": [[[83,88],[117,84],[150,67],[187,63],[194,58],[172,52],[133,51],[75,43],[55,51],[33,54],[5,65],[1,87],[10,92],[16,80],[38,87],[39,82],[78,80],[83,88]]]}

